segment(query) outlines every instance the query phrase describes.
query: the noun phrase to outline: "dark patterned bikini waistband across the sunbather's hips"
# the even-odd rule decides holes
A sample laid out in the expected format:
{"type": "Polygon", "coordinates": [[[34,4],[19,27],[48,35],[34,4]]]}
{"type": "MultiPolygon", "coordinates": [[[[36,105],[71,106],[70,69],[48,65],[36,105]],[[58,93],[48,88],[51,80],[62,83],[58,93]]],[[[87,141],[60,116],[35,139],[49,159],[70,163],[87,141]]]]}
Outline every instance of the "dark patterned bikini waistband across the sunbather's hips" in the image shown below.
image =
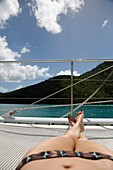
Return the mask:
{"type": "Polygon", "coordinates": [[[16,170],[20,170],[22,166],[24,166],[26,163],[30,161],[48,159],[48,158],[58,158],[58,157],[79,157],[79,158],[85,158],[91,160],[109,159],[113,161],[113,156],[102,154],[99,152],[73,152],[73,151],[54,150],[54,151],[45,151],[45,152],[29,155],[28,157],[24,158],[20,162],[16,170]]]}

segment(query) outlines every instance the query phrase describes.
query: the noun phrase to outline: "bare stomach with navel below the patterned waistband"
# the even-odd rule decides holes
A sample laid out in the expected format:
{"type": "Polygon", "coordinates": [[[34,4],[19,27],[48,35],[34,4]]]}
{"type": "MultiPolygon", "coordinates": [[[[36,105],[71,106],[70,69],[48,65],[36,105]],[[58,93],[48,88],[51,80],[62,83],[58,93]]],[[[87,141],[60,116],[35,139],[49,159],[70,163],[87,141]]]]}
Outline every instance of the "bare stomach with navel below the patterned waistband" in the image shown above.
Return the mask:
{"type": "Polygon", "coordinates": [[[27,163],[21,170],[113,170],[113,162],[107,159],[53,158],[27,163]]]}

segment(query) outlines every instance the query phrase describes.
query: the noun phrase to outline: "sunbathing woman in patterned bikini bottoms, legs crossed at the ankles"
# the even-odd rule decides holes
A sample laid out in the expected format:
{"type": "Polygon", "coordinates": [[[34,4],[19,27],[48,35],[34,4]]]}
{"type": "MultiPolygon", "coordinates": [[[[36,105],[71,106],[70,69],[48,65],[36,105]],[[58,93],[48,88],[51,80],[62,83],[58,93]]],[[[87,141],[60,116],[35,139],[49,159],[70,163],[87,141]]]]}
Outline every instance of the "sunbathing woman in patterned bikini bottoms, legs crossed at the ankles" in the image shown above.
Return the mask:
{"type": "Polygon", "coordinates": [[[113,170],[113,152],[84,136],[83,118],[83,111],[71,116],[63,136],[36,144],[16,170],[113,170]]]}

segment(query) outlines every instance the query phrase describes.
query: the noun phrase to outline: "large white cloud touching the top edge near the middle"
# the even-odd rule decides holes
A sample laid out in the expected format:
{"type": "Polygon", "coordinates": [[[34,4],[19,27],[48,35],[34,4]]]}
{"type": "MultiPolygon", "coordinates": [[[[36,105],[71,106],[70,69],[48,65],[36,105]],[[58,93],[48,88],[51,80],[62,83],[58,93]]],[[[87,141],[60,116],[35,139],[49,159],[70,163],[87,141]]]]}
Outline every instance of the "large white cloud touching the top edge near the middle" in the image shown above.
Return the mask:
{"type": "Polygon", "coordinates": [[[62,31],[58,24],[61,14],[77,13],[83,5],[84,0],[32,0],[37,25],[54,34],[62,31]]]}

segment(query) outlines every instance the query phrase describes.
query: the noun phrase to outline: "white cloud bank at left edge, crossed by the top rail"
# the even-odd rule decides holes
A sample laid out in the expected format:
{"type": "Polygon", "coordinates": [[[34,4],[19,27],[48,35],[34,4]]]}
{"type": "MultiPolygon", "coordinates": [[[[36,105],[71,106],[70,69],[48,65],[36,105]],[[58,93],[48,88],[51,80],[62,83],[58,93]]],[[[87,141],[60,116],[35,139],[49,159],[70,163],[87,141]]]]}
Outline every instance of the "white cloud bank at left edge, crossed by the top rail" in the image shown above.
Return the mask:
{"type": "MultiPolygon", "coordinates": [[[[21,57],[21,55],[8,47],[6,36],[0,37],[0,61],[17,61],[18,57],[21,57]]],[[[33,80],[37,76],[50,77],[48,72],[49,67],[23,66],[20,63],[0,64],[0,80],[6,82],[33,80]]]]}

